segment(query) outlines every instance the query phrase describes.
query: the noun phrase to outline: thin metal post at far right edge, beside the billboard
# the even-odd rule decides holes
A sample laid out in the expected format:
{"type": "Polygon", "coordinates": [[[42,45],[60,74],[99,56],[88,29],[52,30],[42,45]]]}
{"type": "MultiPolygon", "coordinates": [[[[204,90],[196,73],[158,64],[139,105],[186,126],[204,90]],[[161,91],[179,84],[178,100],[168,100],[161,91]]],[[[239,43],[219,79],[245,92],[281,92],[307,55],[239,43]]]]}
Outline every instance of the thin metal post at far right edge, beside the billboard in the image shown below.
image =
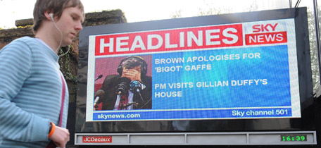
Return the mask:
{"type": "MultiPolygon", "coordinates": [[[[320,63],[320,28],[319,28],[319,15],[317,14],[317,0],[313,0],[313,6],[314,6],[314,13],[315,13],[315,36],[317,38],[317,58],[319,61],[319,76],[320,72],[321,72],[321,63],[320,63]]],[[[319,77],[321,78],[321,77],[319,77]]],[[[320,85],[321,85],[321,81],[320,81],[320,85]]]]}

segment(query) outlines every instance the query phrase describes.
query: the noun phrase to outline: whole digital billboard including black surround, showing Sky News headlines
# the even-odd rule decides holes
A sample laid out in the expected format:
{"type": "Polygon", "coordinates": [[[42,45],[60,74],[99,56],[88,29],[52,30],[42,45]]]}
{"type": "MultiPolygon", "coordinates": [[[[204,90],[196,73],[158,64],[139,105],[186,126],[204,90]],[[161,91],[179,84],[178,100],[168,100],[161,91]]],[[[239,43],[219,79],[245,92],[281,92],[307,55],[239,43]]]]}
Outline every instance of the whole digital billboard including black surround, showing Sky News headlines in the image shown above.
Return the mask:
{"type": "Polygon", "coordinates": [[[85,122],[107,132],[124,122],[170,125],[160,131],[174,121],[292,127],[312,97],[306,9],[297,10],[85,27],[85,122]]]}

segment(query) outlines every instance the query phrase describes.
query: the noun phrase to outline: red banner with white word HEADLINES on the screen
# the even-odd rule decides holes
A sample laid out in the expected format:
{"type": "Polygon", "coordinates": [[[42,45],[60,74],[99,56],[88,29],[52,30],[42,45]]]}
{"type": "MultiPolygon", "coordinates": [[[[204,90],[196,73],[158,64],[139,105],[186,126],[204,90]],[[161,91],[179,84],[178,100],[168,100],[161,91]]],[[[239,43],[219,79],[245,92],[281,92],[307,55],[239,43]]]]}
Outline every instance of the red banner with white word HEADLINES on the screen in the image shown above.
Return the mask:
{"type": "Polygon", "coordinates": [[[99,35],[95,56],[237,47],[243,44],[242,35],[242,24],[99,35]]]}

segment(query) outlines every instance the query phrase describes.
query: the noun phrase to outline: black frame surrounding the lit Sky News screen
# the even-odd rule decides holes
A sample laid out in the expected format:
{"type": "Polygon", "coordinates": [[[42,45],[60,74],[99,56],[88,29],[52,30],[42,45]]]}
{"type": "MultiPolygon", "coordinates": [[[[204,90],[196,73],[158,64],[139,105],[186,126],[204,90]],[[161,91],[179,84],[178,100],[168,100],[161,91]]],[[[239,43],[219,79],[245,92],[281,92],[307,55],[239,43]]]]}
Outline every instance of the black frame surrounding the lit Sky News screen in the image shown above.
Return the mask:
{"type": "Polygon", "coordinates": [[[200,16],[192,18],[176,18],[170,20],[154,20],[140,23],[122,23],[115,25],[84,27],[84,29],[80,32],[75,132],[125,133],[315,130],[315,119],[313,116],[312,72],[306,11],[306,8],[287,8],[272,11],[234,13],[217,16],[200,16]],[[220,25],[229,23],[245,23],[286,18],[294,18],[296,25],[296,49],[298,57],[298,80],[301,98],[301,118],[202,121],[85,121],[89,35],[163,30],[178,27],[220,25]]]}

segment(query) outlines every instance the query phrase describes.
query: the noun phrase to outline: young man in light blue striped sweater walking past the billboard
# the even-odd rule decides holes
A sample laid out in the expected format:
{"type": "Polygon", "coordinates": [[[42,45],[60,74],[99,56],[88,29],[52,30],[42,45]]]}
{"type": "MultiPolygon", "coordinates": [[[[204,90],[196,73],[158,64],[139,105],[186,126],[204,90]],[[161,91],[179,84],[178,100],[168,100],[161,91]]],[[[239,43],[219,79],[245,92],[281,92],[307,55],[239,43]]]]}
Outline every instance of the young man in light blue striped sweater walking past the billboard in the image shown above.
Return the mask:
{"type": "Polygon", "coordinates": [[[82,30],[80,0],[37,0],[35,38],[15,39],[0,50],[0,147],[65,147],[68,87],[58,50],[82,30]]]}

